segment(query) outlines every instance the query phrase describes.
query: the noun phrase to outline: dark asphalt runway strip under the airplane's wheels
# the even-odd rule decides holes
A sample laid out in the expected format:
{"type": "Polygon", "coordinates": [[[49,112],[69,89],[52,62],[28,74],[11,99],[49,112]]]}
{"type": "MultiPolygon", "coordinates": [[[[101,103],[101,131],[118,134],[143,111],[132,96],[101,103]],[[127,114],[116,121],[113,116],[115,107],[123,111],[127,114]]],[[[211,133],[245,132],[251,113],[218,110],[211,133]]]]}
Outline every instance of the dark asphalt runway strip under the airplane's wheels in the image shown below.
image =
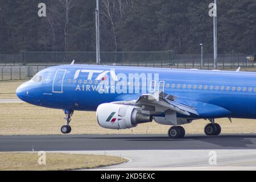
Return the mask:
{"type": "Polygon", "coordinates": [[[30,135],[0,136],[0,151],[105,151],[105,150],[236,150],[255,149],[256,134],[187,135],[30,135]]]}

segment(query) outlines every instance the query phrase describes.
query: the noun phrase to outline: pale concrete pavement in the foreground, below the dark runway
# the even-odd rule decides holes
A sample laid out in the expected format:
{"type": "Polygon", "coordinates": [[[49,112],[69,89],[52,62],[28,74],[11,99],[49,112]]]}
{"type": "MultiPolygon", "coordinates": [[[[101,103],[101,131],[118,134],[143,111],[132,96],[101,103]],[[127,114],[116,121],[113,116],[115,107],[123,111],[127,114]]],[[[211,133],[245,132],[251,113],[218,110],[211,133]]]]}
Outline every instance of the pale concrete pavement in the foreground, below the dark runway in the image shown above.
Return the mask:
{"type": "MultiPolygon", "coordinates": [[[[171,170],[255,170],[256,150],[135,150],[104,151],[105,155],[125,156],[130,162],[104,167],[107,171],[171,171],[171,170]],[[210,155],[216,154],[216,163],[210,155]]],[[[102,151],[85,151],[78,154],[103,155],[102,151]]],[[[94,169],[92,169],[94,170],[94,169]]],[[[99,170],[99,169],[97,169],[99,170]]]]}

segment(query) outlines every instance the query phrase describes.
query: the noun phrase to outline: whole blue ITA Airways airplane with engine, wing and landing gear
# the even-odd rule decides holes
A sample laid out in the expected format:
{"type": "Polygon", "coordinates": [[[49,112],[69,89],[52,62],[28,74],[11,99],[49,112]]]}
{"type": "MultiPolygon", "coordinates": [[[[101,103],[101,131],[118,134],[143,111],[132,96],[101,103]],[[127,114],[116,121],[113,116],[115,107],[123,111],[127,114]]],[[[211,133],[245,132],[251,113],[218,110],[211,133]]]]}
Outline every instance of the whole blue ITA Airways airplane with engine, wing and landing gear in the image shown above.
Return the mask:
{"type": "Polygon", "coordinates": [[[183,138],[185,125],[209,121],[206,135],[219,135],[216,118],[256,119],[256,73],[60,65],[44,69],[20,85],[16,95],[29,104],[62,109],[71,133],[75,110],[97,111],[106,129],[130,129],[141,123],[170,125],[170,138],[183,138]]]}

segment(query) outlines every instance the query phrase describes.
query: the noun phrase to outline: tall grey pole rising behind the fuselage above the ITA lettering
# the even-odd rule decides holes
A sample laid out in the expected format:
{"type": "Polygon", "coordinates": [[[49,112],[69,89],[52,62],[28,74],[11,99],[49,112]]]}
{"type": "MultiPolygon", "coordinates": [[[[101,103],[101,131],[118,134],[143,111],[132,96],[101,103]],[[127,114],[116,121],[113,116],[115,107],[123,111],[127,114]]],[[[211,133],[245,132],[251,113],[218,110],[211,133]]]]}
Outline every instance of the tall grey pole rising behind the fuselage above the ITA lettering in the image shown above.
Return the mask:
{"type": "Polygon", "coordinates": [[[97,65],[101,64],[101,55],[100,55],[100,5],[99,0],[96,1],[96,62],[97,65]]]}

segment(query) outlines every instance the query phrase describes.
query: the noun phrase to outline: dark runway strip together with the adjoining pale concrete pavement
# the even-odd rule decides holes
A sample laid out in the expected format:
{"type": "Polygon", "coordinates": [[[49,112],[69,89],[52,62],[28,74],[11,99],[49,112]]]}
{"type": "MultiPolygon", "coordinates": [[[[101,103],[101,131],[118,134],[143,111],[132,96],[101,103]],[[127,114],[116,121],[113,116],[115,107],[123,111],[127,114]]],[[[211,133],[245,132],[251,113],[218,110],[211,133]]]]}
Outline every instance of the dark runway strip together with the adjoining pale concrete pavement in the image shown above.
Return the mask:
{"type": "MultiPolygon", "coordinates": [[[[255,170],[256,134],[187,135],[19,135],[0,136],[0,151],[48,151],[111,155],[129,162],[96,170],[255,170]],[[210,164],[211,152],[216,163],[210,164]]],[[[94,169],[93,169],[94,170],[94,169]]]]}

